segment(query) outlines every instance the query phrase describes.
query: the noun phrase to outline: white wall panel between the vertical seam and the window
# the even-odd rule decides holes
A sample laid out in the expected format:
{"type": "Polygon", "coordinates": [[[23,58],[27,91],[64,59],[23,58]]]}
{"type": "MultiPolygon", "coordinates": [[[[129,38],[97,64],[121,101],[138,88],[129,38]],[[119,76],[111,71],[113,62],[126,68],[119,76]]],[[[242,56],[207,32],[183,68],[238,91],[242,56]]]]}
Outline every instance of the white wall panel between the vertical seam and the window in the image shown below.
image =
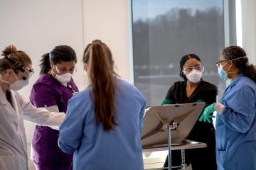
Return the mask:
{"type": "Polygon", "coordinates": [[[129,0],[83,0],[85,45],[100,39],[112,50],[117,73],[131,81],[129,53],[129,0]]]}

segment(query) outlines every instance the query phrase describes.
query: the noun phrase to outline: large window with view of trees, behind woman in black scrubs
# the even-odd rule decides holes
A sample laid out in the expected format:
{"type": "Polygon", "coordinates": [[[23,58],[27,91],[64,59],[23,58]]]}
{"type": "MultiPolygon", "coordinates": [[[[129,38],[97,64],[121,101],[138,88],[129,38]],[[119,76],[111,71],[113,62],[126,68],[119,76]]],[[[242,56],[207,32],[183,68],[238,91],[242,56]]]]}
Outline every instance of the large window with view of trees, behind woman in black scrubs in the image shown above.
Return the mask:
{"type": "Polygon", "coordinates": [[[225,81],[215,62],[225,47],[223,0],[132,0],[134,84],[149,105],[159,105],[178,76],[183,55],[195,53],[203,79],[219,94],[225,81]]]}

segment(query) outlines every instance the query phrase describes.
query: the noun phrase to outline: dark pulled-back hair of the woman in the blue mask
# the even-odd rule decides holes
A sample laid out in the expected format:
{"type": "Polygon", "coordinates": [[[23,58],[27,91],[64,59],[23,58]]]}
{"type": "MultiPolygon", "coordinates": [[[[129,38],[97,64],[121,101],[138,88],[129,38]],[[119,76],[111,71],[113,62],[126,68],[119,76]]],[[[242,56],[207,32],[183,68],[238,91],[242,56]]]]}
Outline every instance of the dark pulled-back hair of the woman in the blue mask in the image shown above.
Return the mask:
{"type": "Polygon", "coordinates": [[[225,47],[221,54],[225,60],[233,60],[235,67],[238,69],[240,74],[244,74],[246,77],[249,77],[256,82],[256,68],[255,65],[249,64],[248,58],[246,57],[245,50],[239,46],[230,46],[225,47]],[[239,58],[238,60],[235,60],[239,58]]]}

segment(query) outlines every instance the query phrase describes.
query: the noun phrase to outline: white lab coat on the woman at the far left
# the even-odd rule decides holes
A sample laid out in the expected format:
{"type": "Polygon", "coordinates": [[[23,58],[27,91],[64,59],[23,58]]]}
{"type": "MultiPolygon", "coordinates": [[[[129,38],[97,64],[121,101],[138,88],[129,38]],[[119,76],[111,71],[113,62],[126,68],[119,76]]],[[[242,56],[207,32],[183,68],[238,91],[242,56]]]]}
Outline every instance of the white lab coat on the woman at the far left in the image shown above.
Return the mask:
{"type": "Polygon", "coordinates": [[[0,169],[27,170],[27,142],[23,120],[37,125],[59,126],[65,113],[49,113],[36,108],[18,92],[11,91],[13,106],[0,87],[0,169]]]}

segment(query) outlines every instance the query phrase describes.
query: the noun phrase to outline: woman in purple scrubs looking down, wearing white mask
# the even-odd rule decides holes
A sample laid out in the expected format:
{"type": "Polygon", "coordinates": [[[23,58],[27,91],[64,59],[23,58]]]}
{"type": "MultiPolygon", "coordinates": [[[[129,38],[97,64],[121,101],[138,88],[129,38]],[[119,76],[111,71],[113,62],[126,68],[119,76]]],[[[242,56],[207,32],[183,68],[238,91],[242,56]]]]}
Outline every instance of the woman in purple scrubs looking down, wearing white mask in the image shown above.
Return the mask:
{"type": "MultiPolygon", "coordinates": [[[[60,45],[41,60],[41,76],[33,85],[31,102],[34,106],[45,107],[49,111],[66,112],[68,100],[78,92],[72,76],[75,74],[77,57],[75,51],[60,45]]],[[[58,147],[58,130],[36,126],[32,145],[31,159],[37,170],[71,170],[73,154],[65,154],[58,147]]]]}

